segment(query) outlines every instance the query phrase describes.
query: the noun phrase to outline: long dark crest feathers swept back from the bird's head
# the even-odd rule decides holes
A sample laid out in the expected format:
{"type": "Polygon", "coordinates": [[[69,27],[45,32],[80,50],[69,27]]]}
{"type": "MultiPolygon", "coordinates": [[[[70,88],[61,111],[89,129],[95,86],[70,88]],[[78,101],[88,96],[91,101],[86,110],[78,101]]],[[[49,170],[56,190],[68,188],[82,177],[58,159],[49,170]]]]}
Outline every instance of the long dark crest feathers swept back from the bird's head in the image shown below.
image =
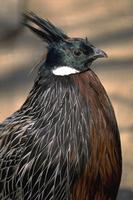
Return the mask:
{"type": "Polygon", "coordinates": [[[33,12],[24,14],[24,24],[47,43],[59,42],[69,37],[50,21],[42,19],[33,12]]]}

